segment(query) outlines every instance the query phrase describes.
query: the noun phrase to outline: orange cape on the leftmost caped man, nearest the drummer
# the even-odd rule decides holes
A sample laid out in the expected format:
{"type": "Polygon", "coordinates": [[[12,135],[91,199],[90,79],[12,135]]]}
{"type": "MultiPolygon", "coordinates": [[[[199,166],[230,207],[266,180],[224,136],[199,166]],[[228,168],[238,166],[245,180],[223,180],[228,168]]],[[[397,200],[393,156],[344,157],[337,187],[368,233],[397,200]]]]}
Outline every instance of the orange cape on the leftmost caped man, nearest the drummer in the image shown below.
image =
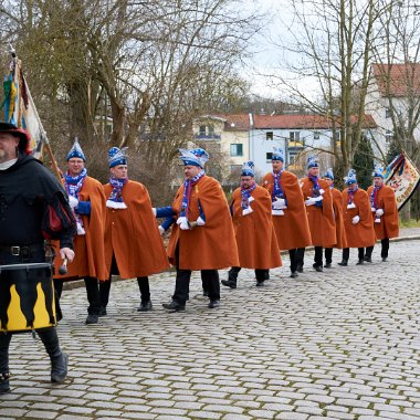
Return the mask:
{"type": "MultiPolygon", "coordinates": [[[[91,201],[91,214],[82,216],[83,225],[86,231],[84,235],[73,238],[75,258],[69,263],[69,273],[59,274],[61,265],[60,258],[55,258],[55,279],[76,280],[86,276],[101,281],[108,279],[108,271],[105,266],[104,253],[104,223],[105,223],[105,195],[101,182],[86,177],[80,193],[81,201],[91,201]]],[[[59,245],[56,244],[56,249],[59,245]]],[[[57,251],[56,251],[57,252],[57,251]]]]}

